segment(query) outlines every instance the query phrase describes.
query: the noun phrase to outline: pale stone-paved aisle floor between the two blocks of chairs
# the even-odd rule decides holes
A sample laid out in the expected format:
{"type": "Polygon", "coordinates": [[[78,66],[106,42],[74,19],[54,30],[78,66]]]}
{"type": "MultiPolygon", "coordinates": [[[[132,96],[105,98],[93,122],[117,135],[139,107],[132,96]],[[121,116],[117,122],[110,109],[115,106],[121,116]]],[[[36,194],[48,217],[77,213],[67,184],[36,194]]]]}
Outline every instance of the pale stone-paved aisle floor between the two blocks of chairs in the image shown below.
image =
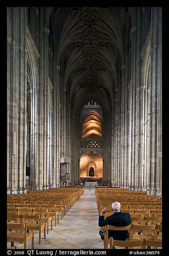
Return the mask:
{"type": "MultiPolygon", "coordinates": [[[[54,224],[54,221],[53,221],[54,224]]],[[[70,211],[59,219],[57,226],[47,234],[47,239],[39,245],[39,234],[35,231],[35,249],[103,249],[103,241],[98,231],[98,211],[94,189],[85,189],[85,193],[73,205],[70,211]]],[[[23,244],[16,244],[17,248],[24,248],[23,244]]],[[[10,246],[7,243],[7,246],[10,246]]],[[[31,248],[28,241],[27,248],[31,248]]]]}

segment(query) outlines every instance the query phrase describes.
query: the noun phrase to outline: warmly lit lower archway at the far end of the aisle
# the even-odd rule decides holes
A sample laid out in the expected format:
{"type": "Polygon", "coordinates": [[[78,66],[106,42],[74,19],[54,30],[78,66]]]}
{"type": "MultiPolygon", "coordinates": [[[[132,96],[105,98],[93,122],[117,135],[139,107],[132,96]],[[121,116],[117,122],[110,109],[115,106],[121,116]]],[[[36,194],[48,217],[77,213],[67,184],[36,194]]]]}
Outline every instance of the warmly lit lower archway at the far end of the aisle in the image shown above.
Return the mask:
{"type": "Polygon", "coordinates": [[[103,157],[97,152],[85,152],[80,157],[80,182],[97,181],[102,183],[103,179],[103,157]]]}

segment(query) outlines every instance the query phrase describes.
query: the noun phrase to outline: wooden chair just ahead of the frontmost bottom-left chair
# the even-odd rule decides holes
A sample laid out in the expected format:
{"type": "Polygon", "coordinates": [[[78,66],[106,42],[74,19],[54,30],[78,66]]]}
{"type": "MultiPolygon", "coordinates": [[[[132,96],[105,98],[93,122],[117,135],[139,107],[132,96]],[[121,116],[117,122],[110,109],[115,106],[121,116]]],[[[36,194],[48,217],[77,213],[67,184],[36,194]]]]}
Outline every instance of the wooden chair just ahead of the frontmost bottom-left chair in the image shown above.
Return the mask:
{"type": "Polygon", "coordinates": [[[39,231],[39,244],[41,244],[41,231],[43,230],[44,239],[46,239],[46,226],[43,223],[41,214],[39,215],[25,215],[21,214],[24,222],[27,222],[27,230],[38,230],[39,231]]]}

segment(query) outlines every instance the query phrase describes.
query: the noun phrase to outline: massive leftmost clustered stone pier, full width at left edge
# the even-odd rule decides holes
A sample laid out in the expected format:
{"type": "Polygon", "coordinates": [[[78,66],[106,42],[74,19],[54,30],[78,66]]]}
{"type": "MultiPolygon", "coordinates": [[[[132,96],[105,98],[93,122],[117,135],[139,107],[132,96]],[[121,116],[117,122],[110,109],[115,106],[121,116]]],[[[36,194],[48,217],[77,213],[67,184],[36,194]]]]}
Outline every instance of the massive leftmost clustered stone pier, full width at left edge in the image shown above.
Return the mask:
{"type": "Polygon", "coordinates": [[[8,18],[11,24],[7,34],[7,194],[22,194],[26,193],[26,8],[9,9],[7,14],[10,15],[8,18]]]}

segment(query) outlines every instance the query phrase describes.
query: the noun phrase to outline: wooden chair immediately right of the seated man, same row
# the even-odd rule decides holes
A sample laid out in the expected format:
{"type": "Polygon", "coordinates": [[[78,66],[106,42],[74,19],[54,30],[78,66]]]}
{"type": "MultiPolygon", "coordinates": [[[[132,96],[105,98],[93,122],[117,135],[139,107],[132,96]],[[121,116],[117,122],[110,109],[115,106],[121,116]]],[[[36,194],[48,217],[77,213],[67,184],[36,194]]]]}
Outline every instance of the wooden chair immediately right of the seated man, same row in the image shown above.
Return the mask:
{"type": "Polygon", "coordinates": [[[140,240],[143,237],[154,240],[156,225],[130,225],[129,240],[140,240]]]}

